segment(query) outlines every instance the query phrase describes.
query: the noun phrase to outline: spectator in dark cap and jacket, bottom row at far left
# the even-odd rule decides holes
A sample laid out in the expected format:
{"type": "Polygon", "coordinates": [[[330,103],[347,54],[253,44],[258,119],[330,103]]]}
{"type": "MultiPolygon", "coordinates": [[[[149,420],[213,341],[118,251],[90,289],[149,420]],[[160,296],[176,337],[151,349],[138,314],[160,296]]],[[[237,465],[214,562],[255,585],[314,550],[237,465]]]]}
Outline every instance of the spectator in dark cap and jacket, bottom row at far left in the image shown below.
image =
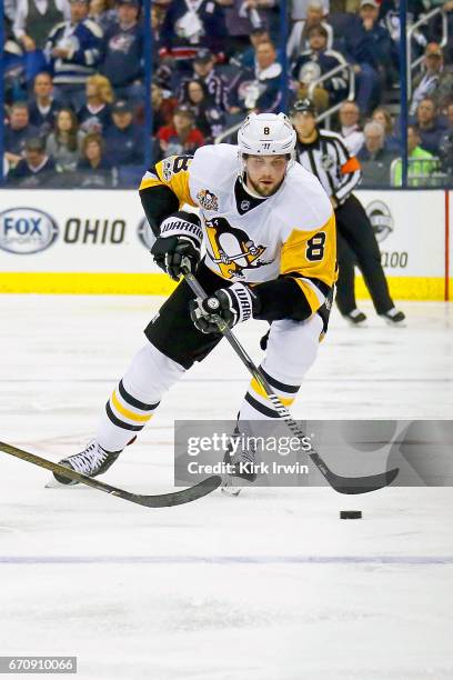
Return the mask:
{"type": "Polygon", "coordinates": [[[21,189],[40,189],[51,186],[56,180],[56,164],[46,154],[44,142],[31,137],[26,142],[24,158],[13,168],[7,183],[21,189]]]}

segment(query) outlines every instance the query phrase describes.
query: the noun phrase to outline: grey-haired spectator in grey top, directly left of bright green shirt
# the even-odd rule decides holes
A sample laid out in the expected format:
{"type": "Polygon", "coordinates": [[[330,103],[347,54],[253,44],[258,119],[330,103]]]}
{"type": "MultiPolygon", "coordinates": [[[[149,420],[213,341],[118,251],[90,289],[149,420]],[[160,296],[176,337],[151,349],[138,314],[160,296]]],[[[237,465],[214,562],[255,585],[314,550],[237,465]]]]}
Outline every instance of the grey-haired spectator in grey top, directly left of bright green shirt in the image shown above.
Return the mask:
{"type": "Polygon", "coordinates": [[[370,121],[363,129],[365,143],[358,154],[362,168],[363,187],[389,187],[390,166],[395,153],[385,148],[385,130],[370,121]]]}

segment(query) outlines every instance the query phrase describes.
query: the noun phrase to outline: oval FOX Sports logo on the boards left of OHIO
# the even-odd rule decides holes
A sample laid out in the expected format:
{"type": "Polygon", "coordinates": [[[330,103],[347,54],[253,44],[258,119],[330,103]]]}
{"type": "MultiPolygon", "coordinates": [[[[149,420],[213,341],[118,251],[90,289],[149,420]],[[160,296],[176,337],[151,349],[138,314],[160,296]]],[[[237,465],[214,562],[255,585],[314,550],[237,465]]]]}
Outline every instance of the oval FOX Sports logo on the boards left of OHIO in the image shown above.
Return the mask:
{"type": "Polygon", "coordinates": [[[46,250],[58,237],[57,222],[36,208],[10,208],[0,212],[0,248],[16,254],[46,250]]]}

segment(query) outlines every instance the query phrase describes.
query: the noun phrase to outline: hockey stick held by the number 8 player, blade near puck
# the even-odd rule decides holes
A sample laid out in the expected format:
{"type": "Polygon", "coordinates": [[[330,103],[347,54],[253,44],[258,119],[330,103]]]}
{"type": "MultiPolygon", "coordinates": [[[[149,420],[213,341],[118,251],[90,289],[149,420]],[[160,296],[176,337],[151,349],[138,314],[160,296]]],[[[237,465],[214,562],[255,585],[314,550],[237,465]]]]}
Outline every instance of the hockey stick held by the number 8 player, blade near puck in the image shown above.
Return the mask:
{"type": "MultiPolygon", "coordinates": [[[[185,281],[195,293],[198,298],[207,298],[207,293],[203,288],[198,282],[197,278],[185,268],[185,281]]],[[[214,316],[214,314],[213,314],[214,316]]],[[[226,338],[238,357],[244,363],[244,366],[249,369],[250,373],[256,380],[259,386],[265,391],[269,400],[275,408],[279,418],[285,421],[291,432],[298,437],[299,439],[303,439],[304,442],[310,440],[301,428],[298,426],[295,420],[292,418],[290,411],[282,404],[279,397],[273,392],[271,386],[268,380],[264,378],[260,369],[253,363],[252,359],[249,357],[242,344],[235,338],[234,333],[231,331],[230,327],[225,323],[225,321],[221,317],[215,318],[215,323],[218,324],[219,331],[226,338]]],[[[371,474],[368,477],[340,477],[332,472],[325,461],[321,458],[321,456],[313,449],[310,444],[310,450],[306,451],[308,456],[314,462],[320,472],[324,476],[331,487],[338,491],[339,493],[368,493],[369,491],[378,491],[378,489],[382,489],[383,487],[387,487],[392,483],[395,477],[399,473],[399,468],[393,470],[387,470],[385,472],[381,472],[379,474],[371,474]]]]}

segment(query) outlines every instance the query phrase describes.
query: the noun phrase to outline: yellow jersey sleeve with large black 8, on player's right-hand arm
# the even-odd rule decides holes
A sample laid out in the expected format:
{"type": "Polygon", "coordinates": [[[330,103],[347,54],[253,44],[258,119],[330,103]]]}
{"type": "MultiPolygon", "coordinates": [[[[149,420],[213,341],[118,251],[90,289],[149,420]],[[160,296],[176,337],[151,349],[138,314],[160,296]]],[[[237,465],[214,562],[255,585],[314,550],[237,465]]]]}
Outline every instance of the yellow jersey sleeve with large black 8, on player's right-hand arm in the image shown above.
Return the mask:
{"type": "Polygon", "coordinates": [[[280,273],[299,274],[294,277],[294,281],[303,291],[313,312],[322,302],[315,282],[311,282],[310,279],[318,279],[332,287],[336,280],[335,266],[336,231],[333,212],[319,229],[312,231],[294,229],[282,246],[280,273]]]}

